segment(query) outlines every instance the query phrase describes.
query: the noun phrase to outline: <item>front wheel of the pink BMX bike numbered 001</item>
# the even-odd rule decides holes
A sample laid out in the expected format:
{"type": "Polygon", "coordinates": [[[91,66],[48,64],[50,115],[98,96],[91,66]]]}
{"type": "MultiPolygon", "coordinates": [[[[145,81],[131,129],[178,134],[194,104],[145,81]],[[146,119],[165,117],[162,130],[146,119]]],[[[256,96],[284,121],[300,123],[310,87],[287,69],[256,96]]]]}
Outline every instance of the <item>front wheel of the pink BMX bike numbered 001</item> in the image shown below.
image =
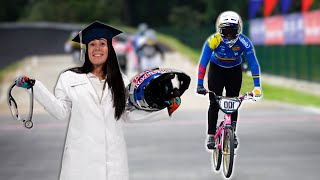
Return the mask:
{"type": "Polygon", "coordinates": [[[225,129],[223,142],[223,173],[226,178],[229,178],[232,173],[234,160],[234,134],[230,128],[225,129]]]}

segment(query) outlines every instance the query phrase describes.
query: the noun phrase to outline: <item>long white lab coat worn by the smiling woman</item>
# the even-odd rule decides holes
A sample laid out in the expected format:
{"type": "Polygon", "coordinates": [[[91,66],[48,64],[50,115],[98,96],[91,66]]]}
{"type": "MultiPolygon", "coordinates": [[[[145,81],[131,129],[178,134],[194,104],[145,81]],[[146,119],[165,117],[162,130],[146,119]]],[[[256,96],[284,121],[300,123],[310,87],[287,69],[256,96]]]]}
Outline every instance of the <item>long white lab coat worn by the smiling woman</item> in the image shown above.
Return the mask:
{"type": "Polygon", "coordinates": [[[166,109],[156,112],[136,109],[126,111],[117,121],[112,95],[106,85],[101,103],[86,74],[62,73],[55,96],[38,80],[33,87],[35,99],[51,115],[61,120],[70,119],[60,180],[128,180],[123,121],[169,117],[166,109]]]}

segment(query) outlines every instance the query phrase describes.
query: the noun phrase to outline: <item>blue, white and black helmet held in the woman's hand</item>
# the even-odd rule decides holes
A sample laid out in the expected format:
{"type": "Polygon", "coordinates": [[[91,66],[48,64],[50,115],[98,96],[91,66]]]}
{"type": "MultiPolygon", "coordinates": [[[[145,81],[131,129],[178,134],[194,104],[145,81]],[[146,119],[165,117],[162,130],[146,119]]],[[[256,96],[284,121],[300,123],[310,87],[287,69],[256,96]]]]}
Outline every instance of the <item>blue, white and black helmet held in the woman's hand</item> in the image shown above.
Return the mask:
{"type": "Polygon", "coordinates": [[[174,69],[143,71],[128,86],[129,103],[147,111],[164,109],[165,101],[180,97],[188,89],[190,80],[188,75],[174,69]]]}

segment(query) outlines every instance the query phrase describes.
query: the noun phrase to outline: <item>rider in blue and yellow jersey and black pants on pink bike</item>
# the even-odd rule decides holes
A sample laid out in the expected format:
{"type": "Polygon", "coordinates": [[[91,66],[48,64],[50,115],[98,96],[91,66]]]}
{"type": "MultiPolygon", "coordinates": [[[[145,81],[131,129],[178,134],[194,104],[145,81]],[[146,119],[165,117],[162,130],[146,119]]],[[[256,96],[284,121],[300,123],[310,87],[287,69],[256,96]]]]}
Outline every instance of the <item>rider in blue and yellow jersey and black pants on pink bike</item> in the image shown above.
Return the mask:
{"type": "MultiPolygon", "coordinates": [[[[251,68],[253,78],[254,97],[262,96],[260,85],[260,67],[250,40],[242,34],[242,21],[233,11],[226,11],[219,15],[216,22],[217,32],[205,42],[198,68],[197,93],[205,95],[208,91],[203,86],[206,67],[210,61],[208,72],[208,88],[221,96],[225,88],[226,96],[236,97],[242,84],[241,55],[245,55],[251,68]]],[[[213,149],[219,106],[213,94],[209,94],[210,106],[208,110],[208,149],[213,149]]],[[[231,115],[232,126],[236,130],[238,111],[231,115]]],[[[235,146],[238,140],[235,136],[235,146]]]]}

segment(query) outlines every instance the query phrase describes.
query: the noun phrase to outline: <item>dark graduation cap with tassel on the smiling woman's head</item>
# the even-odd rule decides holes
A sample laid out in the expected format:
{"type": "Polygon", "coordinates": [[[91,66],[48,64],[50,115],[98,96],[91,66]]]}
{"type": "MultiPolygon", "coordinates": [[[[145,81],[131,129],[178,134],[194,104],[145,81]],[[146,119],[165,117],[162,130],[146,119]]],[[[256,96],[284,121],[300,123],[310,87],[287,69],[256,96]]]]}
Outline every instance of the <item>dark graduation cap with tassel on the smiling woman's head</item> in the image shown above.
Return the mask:
{"type": "Polygon", "coordinates": [[[84,43],[87,45],[90,41],[94,39],[105,38],[107,40],[112,40],[114,36],[117,36],[121,33],[122,31],[114,27],[103,24],[99,21],[95,21],[83,30],[81,30],[79,34],[72,39],[72,41],[80,44],[84,43]]]}

